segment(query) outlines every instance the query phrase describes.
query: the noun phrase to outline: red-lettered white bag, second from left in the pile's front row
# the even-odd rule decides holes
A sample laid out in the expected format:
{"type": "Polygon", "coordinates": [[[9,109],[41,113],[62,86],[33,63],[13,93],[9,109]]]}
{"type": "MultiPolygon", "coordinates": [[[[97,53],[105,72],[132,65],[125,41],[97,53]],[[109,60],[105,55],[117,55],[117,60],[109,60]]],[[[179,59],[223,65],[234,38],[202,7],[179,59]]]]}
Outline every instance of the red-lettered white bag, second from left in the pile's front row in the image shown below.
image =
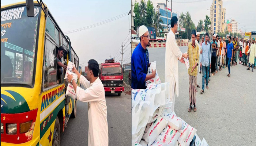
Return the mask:
{"type": "Polygon", "coordinates": [[[170,125],[167,125],[161,134],[157,137],[157,141],[160,141],[163,146],[176,146],[178,138],[180,137],[180,132],[170,128],[170,125]]]}

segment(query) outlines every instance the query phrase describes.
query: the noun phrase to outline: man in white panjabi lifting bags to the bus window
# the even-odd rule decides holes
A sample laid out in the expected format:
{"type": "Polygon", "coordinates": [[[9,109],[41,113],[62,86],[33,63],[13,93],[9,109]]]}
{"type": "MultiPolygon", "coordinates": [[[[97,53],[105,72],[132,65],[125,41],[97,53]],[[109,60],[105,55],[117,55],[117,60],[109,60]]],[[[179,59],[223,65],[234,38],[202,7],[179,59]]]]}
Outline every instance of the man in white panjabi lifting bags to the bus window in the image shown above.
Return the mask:
{"type": "Polygon", "coordinates": [[[75,67],[72,71],[78,75],[80,84],[86,88],[83,90],[78,87],[73,76],[68,74],[68,82],[72,82],[76,98],[82,102],[88,102],[88,146],[108,146],[107,106],[104,87],[98,78],[98,62],[94,59],[88,61],[86,78],[75,67]]]}

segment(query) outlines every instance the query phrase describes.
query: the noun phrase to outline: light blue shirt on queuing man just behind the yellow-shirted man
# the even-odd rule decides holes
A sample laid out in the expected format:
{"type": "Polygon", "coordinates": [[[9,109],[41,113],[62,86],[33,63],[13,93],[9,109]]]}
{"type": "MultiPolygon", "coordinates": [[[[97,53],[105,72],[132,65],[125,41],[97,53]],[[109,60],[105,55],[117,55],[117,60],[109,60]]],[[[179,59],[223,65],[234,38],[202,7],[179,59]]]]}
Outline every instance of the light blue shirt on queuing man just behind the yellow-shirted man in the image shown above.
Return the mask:
{"type": "Polygon", "coordinates": [[[211,48],[210,48],[210,43],[207,42],[207,45],[205,44],[205,42],[202,43],[202,50],[203,53],[201,55],[201,63],[202,66],[208,66],[209,65],[209,61],[211,64],[211,48]]]}

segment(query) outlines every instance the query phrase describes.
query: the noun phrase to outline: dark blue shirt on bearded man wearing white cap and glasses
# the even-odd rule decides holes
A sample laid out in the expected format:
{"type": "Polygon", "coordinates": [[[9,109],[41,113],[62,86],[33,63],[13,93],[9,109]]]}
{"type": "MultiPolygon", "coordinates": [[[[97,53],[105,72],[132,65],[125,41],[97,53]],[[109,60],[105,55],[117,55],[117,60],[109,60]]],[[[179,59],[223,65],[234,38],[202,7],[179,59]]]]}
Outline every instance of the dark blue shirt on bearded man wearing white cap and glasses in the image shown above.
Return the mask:
{"type": "Polygon", "coordinates": [[[148,62],[146,50],[139,43],[132,53],[132,89],[146,89],[148,62]]]}

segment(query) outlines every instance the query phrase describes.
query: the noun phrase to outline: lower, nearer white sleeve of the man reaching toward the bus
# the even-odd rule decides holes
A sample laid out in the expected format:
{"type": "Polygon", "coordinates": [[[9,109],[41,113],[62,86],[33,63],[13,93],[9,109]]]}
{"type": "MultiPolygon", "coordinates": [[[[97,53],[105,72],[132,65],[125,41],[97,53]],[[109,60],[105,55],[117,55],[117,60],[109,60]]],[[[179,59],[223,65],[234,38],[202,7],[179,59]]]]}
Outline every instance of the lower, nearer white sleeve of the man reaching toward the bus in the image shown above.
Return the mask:
{"type": "Polygon", "coordinates": [[[100,92],[97,86],[91,86],[86,90],[76,87],[76,98],[83,102],[99,101],[100,92]]]}

